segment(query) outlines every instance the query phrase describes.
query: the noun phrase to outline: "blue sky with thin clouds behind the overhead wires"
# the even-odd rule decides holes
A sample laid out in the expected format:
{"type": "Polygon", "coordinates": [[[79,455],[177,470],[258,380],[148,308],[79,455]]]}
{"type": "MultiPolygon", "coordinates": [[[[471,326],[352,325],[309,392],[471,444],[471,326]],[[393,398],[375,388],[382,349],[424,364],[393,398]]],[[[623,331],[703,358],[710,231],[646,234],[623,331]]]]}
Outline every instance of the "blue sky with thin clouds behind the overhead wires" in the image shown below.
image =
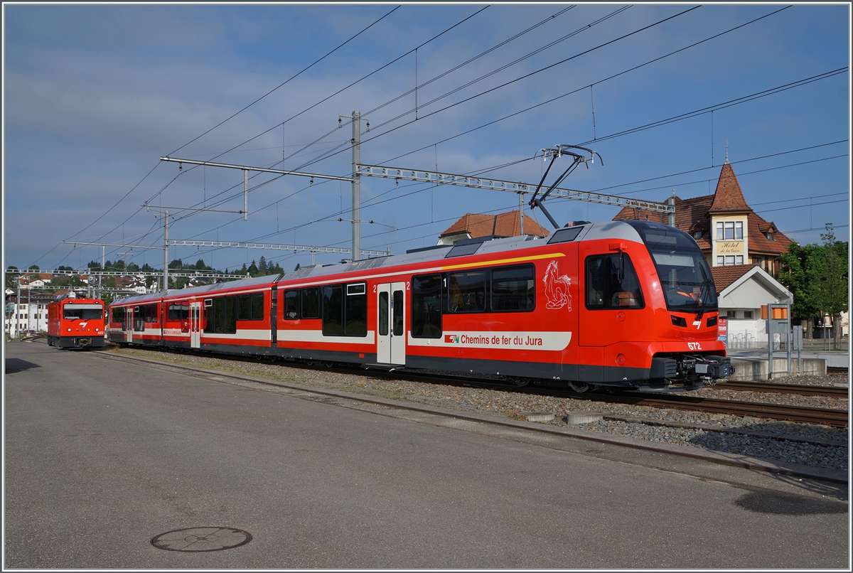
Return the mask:
{"type": "MultiPolygon", "coordinates": [[[[561,187],[647,200],[713,193],[728,146],[762,217],[801,243],[819,242],[825,223],[847,240],[850,8],[786,6],[5,3],[3,265],[101,257],[62,240],[161,246],[146,201],[242,208],[241,171],[179,171],[164,155],[349,176],[351,127],[335,128],[352,111],[371,124],[364,164],[536,183],[538,150],[583,145],[603,165],[561,187]]],[[[248,221],[173,208],[170,239],[351,246],[351,223],[338,221],[353,218],[349,183],[252,173],[250,188],[248,221]]],[[[375,222],[362,248],[393,253],[434,245],[466,212],[518,208],[515,194],[371,177],[361,196],[362,220],[375,222]]],[[[554,200],[548,211],[597,221],[618,207],[554,200]]],[[[235,269],[262,255],[310,264],[234,248],[171,247],[169,258],[235,269]]],[[[127,258],[160,267],[163,254],[127,258]]]]}

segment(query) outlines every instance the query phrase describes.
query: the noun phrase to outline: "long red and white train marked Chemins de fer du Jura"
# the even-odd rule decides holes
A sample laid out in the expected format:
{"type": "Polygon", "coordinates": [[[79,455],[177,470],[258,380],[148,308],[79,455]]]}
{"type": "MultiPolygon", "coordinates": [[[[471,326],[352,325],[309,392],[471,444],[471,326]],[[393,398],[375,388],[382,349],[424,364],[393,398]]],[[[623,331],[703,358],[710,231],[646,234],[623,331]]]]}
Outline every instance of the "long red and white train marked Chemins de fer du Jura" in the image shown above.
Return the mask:
{"type": "Polygon", "coordinates": [[[120,299],[108,339],[577,391],[687,390],[734,373],[705,256],[658,223],[460,241],[277,278],[120,299]]]}

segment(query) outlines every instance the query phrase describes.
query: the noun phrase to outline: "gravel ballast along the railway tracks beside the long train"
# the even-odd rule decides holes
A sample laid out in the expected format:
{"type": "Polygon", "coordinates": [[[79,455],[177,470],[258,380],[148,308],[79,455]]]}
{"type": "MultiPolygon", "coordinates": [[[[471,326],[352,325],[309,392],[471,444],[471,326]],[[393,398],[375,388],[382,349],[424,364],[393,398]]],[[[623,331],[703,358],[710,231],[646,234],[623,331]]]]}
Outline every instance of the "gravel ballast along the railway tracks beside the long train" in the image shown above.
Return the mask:
{"type": "MultiPolygon", "coordinates": [[[[421,402],[442,408],[481,414],[501,415],[525,420],[531,413],[554,413],[549,425],[566,426],[566,413],[594,411],[603,420],[572,427],[587,431],[615,434],[650,442],[691,446],[762,460],[778,460],[804,466],[848,470],[848,429],[824,425],[798,424],[779,420],[748,418],[729,414],[705,414],[667,408],[651,408],[542,396],[519,391],[489,390],[475,387],[386,379],[368,373],[341,372],[319,368],[294,367],[287,362],[248,362],[223,357],[188,355],[157,350],[116,349],[111,353],[141,356],[163,362],[187,364],[259,378],[281,380],[299,385],[331,388],[382,396],[410,402],[421,402]],[[734,433],[738,432],[738,433],[734,433]]],[[[847,374],[803,376],[774,379],[773,382],[804,385],[839,385],[848,382],[847,374]]],[[[688,395],[717,399],[809,406],[812,408],[848,409],[846,398],[798,396],[776,392],[732,391],[723,387],[706,387],[688,395]]],[[[594,396],[594,395],[591,395],[594,396]]]]}

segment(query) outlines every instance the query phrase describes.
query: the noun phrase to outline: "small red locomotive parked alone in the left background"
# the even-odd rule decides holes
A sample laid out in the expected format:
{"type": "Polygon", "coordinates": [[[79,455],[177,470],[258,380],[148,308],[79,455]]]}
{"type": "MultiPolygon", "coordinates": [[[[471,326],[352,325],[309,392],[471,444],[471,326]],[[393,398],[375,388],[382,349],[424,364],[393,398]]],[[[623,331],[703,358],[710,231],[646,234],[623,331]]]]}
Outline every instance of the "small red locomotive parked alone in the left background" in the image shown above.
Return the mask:
{"type": "Polygon", "coordinates": [[[69,292],[48,304],[48,344],[59,348],[104,345],[104,301],[69,292]]]}

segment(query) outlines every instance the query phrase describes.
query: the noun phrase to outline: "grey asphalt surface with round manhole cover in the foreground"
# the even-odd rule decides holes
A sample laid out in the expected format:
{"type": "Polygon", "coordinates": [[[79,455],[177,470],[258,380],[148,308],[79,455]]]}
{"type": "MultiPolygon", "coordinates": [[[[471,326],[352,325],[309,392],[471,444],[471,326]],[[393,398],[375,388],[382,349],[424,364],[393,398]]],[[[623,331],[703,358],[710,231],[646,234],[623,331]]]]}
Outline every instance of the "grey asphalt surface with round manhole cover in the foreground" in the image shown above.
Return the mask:
{"type": "Polygon", "coordinates": [[[699,478],[38,343],[5,345],[4,382],[5,569],[850,566],[846,487],[699,478]],[[200,527],[252,541],[151,544],[200,527]]]}

